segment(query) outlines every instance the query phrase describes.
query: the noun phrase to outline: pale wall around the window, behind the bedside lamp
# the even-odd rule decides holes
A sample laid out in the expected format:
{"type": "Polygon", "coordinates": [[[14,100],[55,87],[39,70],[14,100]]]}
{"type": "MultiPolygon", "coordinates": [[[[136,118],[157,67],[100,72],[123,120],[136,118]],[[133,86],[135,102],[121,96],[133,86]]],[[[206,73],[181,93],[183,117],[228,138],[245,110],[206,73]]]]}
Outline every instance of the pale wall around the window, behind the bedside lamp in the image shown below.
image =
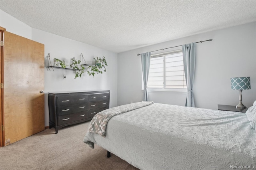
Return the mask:
{"type": "MultiPolygon", "coordinates": [[[[196,44],[196,107],[217,109],[218,104],[238,104],[239,92],[231,90],[230,78],[246,76],[251,78],[251,89],[242,92],[242,103],[252,106],[256,100],[256,22],[118,53],[118,105],[143,99],[138,53],[209,39],[213,41],[196,44]]],[[[178,48],[181,47],[170,50],[178,48]]],[[[186,93],[150,91],[149,100],[184,106],[186,93]]]]}

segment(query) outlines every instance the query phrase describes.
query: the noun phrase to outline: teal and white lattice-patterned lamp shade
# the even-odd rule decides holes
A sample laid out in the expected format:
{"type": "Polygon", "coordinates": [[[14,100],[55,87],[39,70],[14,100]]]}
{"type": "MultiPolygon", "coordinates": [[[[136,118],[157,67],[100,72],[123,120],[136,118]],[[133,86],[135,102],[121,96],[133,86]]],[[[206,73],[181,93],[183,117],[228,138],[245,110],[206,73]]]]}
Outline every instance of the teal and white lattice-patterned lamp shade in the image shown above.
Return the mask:
{"type": "Polygon", "coordinates": [[[232,90],[248,90],[251,89],[250,77],[234,77],[231,78],[232,90]]]}

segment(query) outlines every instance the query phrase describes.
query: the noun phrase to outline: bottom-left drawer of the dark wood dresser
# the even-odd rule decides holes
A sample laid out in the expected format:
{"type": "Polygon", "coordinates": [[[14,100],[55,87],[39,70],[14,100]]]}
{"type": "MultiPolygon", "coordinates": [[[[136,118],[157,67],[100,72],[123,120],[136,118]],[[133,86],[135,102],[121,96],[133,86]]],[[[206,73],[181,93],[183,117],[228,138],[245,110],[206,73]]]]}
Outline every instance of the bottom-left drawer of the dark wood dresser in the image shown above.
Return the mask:
{"type": "Polygon", "coordinates": [[[69,115],[62,115],[58,117],[58,125],[64,125],[75,121],[88,118],[88,111],[73,113],[69,115]]]}

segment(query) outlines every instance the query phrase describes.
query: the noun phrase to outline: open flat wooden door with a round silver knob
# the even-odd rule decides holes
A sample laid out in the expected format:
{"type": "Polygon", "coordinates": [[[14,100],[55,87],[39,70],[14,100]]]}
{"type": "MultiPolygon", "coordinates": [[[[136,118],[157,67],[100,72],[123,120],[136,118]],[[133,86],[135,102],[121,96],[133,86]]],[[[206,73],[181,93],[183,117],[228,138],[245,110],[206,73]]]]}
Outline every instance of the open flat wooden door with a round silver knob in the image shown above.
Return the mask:
{"type": "Polygon", "coordinates": [[[4,32],[4,145],[44,130],[44,44],[4,32]]]}

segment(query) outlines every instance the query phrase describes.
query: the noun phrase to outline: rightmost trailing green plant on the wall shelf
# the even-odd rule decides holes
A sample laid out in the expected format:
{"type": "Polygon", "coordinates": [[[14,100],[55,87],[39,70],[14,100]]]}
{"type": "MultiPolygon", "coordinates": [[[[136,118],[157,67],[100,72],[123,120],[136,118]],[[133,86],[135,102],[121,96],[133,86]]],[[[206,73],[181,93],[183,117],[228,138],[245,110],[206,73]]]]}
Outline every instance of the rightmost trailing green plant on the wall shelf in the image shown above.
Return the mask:
{"type": "Polygon", "coordinates": [[[89,70],[87,71],[87,73],[94,77],[95,74],[98,74],[98,73],[102,74],[102,71],[101,71],[102,69],[104,72],[106,72],[106,65],[108,64],[106,62],[105,57],[103,56],[102,58],[97,57],[93,59],[95,60],[95,65],[90,65],[88,67],[89,70]]]}

